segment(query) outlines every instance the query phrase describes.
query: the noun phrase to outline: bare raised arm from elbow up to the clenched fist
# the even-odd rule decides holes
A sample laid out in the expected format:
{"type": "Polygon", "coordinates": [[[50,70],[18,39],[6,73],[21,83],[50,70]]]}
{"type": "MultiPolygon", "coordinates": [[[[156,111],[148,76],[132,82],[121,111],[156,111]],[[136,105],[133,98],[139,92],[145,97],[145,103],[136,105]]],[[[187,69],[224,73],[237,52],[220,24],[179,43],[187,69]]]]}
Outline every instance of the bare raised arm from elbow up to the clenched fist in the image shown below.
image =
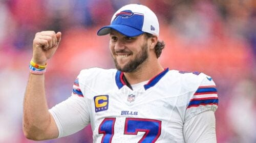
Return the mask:
{"type": "MultiPolygon", "coordinates": [[[[60,39],[60,32],[57,34],[54,31],[36,33],[33,40],[32,63],[45,67],[47,60],[57,50],[60,39]]],[[[33,140],[58,137],[58,128],[48,111],[45,93],[45,75],[40,69],[42,68],[39,68],[34,73],[33,70],[30,70],[24,97],[23,132],[27,138],[33,140]]]]}

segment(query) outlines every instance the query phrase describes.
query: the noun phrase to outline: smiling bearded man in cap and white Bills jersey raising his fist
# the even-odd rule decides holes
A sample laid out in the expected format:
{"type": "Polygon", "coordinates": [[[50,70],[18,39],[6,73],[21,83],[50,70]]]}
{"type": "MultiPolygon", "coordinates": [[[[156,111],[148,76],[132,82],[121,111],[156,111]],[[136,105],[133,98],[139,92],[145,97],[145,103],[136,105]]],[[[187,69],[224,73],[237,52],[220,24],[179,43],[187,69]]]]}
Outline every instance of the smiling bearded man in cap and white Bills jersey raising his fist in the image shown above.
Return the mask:
{"type": "Polygon", "coordinates": [[[126,5],[98,31],[107,34],[116,69],[82,70],[71,97],[50,110],[44,73],[61,33],[35,35],[24,101],[27,138],[63,137],[91,124],[94,142],[216,142],[215,83],[203,73],[162,68],[154,12],[126,5]]]}

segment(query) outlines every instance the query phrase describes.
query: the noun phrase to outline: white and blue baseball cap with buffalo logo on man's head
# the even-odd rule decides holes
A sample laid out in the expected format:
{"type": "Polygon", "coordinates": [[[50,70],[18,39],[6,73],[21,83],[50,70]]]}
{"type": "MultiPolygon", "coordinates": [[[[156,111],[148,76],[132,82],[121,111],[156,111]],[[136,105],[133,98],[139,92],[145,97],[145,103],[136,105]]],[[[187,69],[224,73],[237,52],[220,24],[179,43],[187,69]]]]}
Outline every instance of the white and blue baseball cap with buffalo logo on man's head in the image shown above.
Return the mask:
{"type": "Polygon", "coordinates": [[[129,37],[145,32],[159,36],[156,14],[148,7],[139,4],[125,5],[117,10],[111,19],[111,24],[101,27],[97,35],[109,34],[111,29],[129,37]]]}

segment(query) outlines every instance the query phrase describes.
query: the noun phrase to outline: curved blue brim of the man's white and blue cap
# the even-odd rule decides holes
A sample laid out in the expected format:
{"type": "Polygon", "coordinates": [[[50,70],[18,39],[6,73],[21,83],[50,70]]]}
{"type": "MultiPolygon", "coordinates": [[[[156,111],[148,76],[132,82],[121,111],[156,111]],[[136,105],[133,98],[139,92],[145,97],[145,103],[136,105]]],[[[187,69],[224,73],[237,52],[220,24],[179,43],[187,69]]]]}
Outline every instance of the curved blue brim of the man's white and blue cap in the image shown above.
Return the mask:
{"type": "Polygon", "coordinates": [[[100,28],[97,35],[102,36],[109,34],[111,29],[116,30],[117,32],[121,33],[122,35],[129,36],[129,37],[135,37],[143,34],[144,32],[137,30],[136,28],[127,26],[127,25],[121,25],[121,24],[113,24],[108,25],[100,28]]]}

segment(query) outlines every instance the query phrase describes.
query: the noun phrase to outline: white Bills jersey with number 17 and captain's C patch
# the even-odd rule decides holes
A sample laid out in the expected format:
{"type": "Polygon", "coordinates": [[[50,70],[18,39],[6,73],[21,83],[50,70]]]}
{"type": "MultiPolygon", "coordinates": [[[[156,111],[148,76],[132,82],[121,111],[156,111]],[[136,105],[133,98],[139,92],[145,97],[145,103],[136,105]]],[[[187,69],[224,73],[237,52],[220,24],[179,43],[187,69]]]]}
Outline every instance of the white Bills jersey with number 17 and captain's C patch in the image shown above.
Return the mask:
{"type": "Polygon", "coordinates": [[[67,136],[91,124],[94,142],[185,142],[184,124],[218,106],[216,85],[203,73],[165,69],[141,88],[116,69],[78,75],[72,96],[50,109],[67,136]]]}

